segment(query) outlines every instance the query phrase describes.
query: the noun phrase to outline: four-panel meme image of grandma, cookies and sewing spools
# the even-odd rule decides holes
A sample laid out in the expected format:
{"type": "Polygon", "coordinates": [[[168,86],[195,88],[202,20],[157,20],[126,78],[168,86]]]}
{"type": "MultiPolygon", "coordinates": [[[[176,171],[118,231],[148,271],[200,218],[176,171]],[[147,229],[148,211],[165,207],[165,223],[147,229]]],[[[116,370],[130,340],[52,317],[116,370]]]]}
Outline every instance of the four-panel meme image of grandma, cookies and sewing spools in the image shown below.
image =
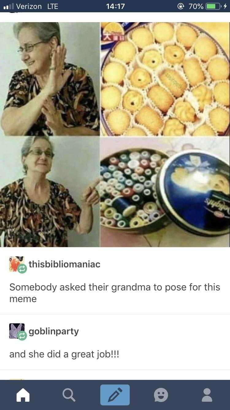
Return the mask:
{"type": "Polygon", "coordinates": [[[228,247],[229,23],[2,23],[3,247],[228,247]]]}

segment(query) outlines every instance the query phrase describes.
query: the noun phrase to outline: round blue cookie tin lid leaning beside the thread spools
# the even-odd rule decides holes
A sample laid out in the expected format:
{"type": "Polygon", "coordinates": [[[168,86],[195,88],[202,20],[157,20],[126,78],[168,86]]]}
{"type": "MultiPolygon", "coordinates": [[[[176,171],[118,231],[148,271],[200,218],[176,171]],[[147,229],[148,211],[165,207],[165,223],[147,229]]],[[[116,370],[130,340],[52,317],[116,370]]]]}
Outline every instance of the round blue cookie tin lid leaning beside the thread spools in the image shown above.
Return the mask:
{"type": "Polygon", "coordinates": [[[162,166],[156,190],[167,216],[196,235],[229,232],[229,165],[200,150],[173,155],[162,166]]]}

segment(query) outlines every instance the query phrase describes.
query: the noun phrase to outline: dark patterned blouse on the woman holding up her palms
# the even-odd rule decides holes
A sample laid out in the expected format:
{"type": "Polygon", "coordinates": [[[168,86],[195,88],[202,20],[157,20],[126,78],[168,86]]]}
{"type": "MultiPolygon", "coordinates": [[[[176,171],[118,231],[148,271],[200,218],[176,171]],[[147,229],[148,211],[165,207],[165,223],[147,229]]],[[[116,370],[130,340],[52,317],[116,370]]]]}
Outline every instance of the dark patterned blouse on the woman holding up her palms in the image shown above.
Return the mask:
{"type": "MultiPolygon", "coordinates": [[[[67,128],[83,126],[98,131],[99,112],[91,78],[83,68],[73,64],[65,63],[64,70],[71,70],[72,74],[63,88],[52,97],[56,109],[61,112],[64,126],[67,128]]],[[[40,91],[36,77],[29,74],[27,69],[16,71],[9,84],[4,109],[22,107],[40,91]]],[[[45,115],[41,114],[27,131],[27,135],[53,135],[45,121],[45,115]]]]}

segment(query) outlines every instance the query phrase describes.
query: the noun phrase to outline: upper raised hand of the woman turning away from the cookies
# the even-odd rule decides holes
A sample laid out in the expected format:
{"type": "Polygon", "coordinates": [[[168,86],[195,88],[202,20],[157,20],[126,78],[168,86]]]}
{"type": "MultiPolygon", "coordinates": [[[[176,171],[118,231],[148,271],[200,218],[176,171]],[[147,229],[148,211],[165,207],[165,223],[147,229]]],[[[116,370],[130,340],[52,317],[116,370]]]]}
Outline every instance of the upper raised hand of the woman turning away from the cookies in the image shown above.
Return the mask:
{"type": "Polygon", "coordinates": [[[50,76],[44,89],[49,97],[58,93],[70,77],[71,70],[63,71],[65,55],[66,48],[64,44],[57,46],[52,54],[50,76]]]}

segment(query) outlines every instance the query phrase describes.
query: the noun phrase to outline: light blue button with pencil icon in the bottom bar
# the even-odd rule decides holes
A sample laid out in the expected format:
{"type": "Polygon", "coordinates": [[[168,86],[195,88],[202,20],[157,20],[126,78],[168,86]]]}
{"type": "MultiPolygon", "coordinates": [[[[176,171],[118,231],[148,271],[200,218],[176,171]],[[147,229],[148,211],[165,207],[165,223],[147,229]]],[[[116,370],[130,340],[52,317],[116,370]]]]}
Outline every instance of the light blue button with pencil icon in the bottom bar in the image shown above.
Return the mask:
{"type": "Polygon", "coordinates": [[[102,406],[129,406],[129,385],[101,385],[100,404],[102,406]]]}

